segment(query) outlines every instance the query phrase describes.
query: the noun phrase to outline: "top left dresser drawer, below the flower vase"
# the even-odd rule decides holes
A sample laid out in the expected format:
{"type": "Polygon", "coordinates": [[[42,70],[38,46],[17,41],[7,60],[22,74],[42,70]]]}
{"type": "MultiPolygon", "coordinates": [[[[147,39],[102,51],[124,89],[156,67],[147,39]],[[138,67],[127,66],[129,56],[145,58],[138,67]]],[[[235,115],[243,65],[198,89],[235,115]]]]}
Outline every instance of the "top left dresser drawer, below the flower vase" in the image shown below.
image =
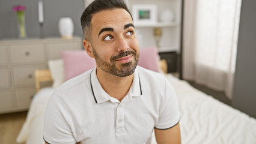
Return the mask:
{"type": "Polygon", "coordinates": [[[45,61],[43,44],[11,45],[11,62],[14,64],[29,62],[43,63],[45,61]]]}

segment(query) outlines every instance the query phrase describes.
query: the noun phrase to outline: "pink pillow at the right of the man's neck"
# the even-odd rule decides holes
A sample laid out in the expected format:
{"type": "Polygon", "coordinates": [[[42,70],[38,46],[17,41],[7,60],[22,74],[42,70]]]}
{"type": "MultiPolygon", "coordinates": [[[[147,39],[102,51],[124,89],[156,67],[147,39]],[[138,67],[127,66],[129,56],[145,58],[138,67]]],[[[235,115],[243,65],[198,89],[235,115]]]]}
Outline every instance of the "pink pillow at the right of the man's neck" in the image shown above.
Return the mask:
{"type": "Polygon", "coordinates": [[[138,65],[148,70],[159,72],[157,48],[148,47],[141,49],[138,65]]]}

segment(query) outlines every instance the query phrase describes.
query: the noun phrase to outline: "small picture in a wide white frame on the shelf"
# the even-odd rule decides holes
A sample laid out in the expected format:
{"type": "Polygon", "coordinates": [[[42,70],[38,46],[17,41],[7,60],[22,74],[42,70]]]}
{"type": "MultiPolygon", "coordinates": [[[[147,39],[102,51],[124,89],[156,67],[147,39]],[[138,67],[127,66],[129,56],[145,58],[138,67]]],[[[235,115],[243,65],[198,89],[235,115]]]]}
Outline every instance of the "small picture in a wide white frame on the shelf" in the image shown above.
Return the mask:
{"type": "Polygon", "coordinates": [[[157,6],[155,4],[134,4],[132,14],[135,25],[153,25],[157,22],[157,6]]]}

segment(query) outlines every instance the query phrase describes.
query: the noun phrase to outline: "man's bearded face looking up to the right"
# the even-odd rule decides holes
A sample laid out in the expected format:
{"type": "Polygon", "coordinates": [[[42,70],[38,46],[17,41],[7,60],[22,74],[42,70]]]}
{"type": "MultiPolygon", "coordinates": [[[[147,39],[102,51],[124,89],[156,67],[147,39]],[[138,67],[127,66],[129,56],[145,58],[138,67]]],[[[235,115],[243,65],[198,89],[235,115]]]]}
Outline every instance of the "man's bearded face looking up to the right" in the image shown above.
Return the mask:
{"type": "Polygon", "coordinates": [[[139,61],[139,43],[130,14],[122,8],[100,11],[93,14],[91,25],[97,67],[119,77],[133,74],[139,61]]]}

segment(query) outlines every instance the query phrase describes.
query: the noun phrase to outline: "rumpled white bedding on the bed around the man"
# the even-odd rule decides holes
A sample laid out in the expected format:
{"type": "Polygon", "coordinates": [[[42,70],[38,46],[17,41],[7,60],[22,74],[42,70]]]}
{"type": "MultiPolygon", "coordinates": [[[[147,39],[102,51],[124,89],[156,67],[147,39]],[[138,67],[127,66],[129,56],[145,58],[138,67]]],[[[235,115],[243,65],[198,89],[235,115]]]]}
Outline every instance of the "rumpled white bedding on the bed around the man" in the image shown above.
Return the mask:
{"type": "MultiPolygon", "coordinates": [[[[166,75],[180,105],[182,143],[256,143],[256,120],[204,94],[187,82],[166,75]]],[[[17,142],[44,143],[44,108],[53,88],[43,88],[32,100],[17,142]]],[[[153,137],[153,142],[156,143],[153,137]]]]}

